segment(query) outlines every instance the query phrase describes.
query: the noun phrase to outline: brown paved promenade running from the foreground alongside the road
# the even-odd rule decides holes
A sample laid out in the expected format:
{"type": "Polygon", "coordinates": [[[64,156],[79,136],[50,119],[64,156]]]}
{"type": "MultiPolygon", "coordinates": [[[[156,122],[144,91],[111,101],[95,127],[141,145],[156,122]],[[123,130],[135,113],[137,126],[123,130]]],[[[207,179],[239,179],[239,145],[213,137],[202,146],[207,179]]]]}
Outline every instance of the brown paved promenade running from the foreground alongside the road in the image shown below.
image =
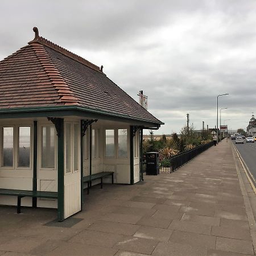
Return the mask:
{"type": "Polygon", "coordinates": [[[0,207],[0,255],[254,255],[241,170],[222,141],[172,174],[94,187],[61,223],[53,209],[0,207]]]}

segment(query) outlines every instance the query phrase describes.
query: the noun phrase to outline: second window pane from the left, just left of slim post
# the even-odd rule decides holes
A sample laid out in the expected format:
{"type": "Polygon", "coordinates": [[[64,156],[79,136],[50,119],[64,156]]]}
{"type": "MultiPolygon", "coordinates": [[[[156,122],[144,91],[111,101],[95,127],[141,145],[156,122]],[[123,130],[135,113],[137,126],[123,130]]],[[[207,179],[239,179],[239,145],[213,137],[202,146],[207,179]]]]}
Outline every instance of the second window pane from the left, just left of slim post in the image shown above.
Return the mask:
{"type": "Polygon", "coordinates": [[[30,167],[30,127],[19,127],[18,167],[30,167]]]}

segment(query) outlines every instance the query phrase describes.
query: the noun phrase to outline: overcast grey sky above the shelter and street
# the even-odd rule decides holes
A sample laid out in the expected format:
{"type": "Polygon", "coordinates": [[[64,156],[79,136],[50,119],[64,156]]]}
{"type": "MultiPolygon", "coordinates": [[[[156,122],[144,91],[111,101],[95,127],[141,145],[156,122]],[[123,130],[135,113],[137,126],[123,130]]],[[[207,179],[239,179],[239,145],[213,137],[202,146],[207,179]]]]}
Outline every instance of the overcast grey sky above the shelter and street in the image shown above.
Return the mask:
{"type": "Polygon", "coordinates": [[[221,119],[245,128],[256,113],[255,0],[0,2],[0,59],[39,35],[92,63],[166,123],[155,134],[221,119]]]}

